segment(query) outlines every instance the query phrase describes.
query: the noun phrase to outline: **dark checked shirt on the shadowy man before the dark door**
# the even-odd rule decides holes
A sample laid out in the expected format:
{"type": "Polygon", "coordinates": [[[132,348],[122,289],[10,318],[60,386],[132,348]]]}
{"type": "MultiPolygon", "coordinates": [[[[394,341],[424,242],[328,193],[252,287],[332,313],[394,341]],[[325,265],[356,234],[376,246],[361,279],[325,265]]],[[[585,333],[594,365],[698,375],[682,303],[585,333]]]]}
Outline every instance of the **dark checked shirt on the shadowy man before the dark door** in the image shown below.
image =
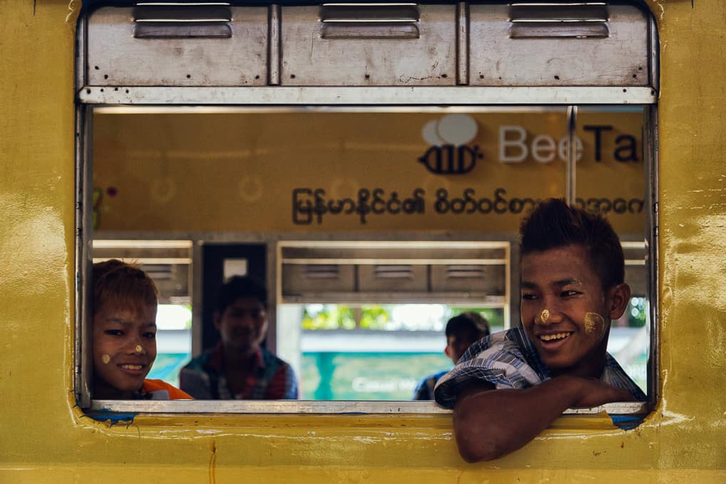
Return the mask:
{"type": "Polygon", "coordinates": [[[255,366],[242,392],[227,385],[221,344],[203,353],[179,373],[179,387],[200,400],[295,400],[298,380],[293,367],[264,348],[257,348],[255,366]]]}

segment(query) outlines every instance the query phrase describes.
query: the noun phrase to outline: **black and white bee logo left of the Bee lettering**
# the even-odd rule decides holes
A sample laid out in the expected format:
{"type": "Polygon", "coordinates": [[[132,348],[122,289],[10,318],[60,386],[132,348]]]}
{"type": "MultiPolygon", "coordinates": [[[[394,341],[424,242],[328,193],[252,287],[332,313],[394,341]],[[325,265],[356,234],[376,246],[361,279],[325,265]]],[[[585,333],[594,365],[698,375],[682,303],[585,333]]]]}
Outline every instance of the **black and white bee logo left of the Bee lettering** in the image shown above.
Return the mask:
{"type": "Polygon", "coordinates": [[[418,158],[428,171],[437,175],[463,175],[484,158],[478,144],[466,144],[476,138],[478,126],[470,115],[452,114],[432,120],[423,127],[423,139],[433,146],[418,158]]]}

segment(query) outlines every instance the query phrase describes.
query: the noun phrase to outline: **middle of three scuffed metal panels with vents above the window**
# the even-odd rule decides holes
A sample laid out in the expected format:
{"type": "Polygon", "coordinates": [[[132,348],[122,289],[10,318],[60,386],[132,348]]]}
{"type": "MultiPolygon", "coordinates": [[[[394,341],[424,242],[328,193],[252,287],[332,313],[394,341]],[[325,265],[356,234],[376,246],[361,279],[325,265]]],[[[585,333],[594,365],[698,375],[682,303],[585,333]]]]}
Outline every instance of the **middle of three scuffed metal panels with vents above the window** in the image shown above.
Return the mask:
{"type": "Polygon", "coordinates": [[[417,22],[322,22],[319,7],[282,7],[282,85],[456,85],[456,6],[418,9],[417,22]]]}

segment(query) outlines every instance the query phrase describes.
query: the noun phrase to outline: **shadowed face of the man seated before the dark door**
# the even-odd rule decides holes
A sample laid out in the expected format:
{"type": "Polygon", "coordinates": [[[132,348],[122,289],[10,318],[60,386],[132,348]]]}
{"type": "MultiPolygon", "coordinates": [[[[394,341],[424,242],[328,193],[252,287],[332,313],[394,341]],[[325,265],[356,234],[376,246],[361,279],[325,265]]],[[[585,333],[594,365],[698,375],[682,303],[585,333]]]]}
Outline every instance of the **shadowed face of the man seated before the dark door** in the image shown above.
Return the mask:
{"type": "Polygon", "coordinates": [[[267,335],[267,311],[256,298],[239,298],[215,316],[214,325],[225,347],[252,350],[267,335]]]}

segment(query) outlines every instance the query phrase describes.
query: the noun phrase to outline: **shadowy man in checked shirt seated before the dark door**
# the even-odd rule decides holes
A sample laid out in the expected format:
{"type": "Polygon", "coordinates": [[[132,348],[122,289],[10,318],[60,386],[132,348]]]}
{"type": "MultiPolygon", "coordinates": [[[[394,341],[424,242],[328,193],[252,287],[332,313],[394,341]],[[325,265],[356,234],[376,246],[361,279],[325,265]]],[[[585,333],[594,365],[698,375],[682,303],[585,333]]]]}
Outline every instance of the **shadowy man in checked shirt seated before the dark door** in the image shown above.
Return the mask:
{"type": "Polygon", "coordinates": [[[234,276],[217,295],[214,326],[220,340],[184,366],[182,389],[205,400],[298,398],[292,366],[260,343],[267,335],[267,291],[250,277],[234,276]]]}

